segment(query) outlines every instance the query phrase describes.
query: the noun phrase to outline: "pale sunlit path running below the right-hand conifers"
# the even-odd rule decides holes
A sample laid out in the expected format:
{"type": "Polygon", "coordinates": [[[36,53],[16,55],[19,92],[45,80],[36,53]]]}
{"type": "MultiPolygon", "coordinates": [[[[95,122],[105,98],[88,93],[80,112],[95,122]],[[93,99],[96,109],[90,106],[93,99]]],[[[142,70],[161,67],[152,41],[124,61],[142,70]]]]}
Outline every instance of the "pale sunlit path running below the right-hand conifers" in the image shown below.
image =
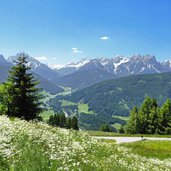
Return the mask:
{"type": "Polygon", "coordinates": [[[155,137],[98,137],[95,138],[99,139],[108,139],[108,140],[115,140],[117,144],[120,143],[128,143],[128,142],[136,142],[141,140],[162,140],[162,141],[171,141],[171,138],[155,138],[155,137]]]}

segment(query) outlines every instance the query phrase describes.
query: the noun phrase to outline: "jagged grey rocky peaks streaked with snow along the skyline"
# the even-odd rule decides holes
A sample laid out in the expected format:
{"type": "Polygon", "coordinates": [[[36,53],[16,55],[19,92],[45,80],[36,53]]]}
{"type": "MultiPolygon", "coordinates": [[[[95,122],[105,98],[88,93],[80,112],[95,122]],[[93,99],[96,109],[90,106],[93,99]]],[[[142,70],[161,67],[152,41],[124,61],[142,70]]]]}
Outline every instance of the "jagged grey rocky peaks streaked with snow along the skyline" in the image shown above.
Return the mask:
{"type": "Polygon", "coordinates": [[[56,71],[62,71],[61,75],[66,75],[79,70],[85,70],[88,66],[91,66],[91,69],[103,68],[116,77],[171,71],[171,62],[169,60],[166,62],[158,62],[153,55],[132,55],[130,58],[126,58],[121,55],[114,58],[84,58],[79,62],[67,64],[61,68],[56,68],[56,71]]]}

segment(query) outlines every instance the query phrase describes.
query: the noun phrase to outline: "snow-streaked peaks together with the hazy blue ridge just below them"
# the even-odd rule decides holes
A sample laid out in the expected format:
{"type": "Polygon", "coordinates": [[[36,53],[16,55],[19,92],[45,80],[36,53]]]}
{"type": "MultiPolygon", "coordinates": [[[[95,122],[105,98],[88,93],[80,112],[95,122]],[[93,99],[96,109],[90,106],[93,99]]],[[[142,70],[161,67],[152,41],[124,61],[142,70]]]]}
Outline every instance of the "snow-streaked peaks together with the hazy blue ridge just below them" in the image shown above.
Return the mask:
{"type": "Polygon", "coordinates": [[[152,55],[133,55],[130,58],[82,59],[54,69],[60,77],[54,83],[73,89],[81,89],[103,80],[129,75],[154,74],[171,71],[171,61],[159,62],[152,55]]]}

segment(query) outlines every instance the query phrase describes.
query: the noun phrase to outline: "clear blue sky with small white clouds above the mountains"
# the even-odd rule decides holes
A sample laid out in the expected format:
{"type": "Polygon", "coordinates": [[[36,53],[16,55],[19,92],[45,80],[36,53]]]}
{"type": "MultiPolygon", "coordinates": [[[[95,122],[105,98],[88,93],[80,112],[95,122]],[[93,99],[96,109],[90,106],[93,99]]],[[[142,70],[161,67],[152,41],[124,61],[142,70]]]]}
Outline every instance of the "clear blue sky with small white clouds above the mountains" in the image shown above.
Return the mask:
{"type": "Polygon", "coordinates": [[[45,63],[152,54],[171,59],[170,0],[1,0],[0,53],[45,63]]]}

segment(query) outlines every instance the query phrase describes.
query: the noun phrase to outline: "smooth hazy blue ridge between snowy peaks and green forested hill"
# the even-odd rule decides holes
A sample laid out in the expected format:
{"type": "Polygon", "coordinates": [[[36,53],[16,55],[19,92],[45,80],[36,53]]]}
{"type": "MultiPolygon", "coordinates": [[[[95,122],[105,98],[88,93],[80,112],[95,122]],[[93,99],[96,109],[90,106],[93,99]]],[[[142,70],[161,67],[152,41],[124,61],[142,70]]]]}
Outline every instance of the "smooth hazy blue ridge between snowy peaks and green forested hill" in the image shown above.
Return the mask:
{"type": "Polygon", "coordinates": [[[53,81],[57,85],[71,87],[73,89],[81,89],[111,78],[113,78],[113,75],[109,72],[95,68],[86,71],[77,71],[53,81]]]}

